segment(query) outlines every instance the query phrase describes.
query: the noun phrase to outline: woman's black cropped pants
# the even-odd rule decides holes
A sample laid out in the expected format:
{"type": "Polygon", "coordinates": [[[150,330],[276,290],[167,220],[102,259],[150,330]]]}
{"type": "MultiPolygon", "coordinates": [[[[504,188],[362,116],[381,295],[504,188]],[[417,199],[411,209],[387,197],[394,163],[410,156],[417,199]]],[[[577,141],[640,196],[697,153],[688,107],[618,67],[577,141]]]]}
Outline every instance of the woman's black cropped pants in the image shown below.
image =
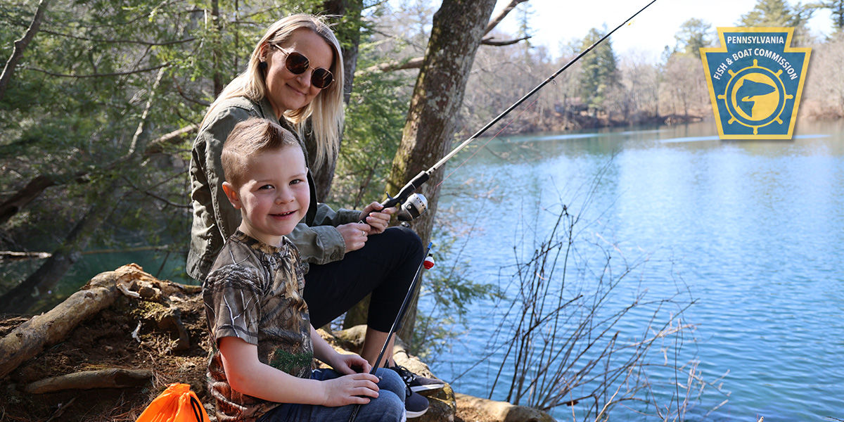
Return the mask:
{"type": "Polygon", "coordinates": [[[364,247],[335,262],[311,264],[305,301],[311,324],[322,327],[372,294],[367,325],[387,333],[422,262],[422,241],[413,230],[390,227],[371,235],[364,247]]]}

